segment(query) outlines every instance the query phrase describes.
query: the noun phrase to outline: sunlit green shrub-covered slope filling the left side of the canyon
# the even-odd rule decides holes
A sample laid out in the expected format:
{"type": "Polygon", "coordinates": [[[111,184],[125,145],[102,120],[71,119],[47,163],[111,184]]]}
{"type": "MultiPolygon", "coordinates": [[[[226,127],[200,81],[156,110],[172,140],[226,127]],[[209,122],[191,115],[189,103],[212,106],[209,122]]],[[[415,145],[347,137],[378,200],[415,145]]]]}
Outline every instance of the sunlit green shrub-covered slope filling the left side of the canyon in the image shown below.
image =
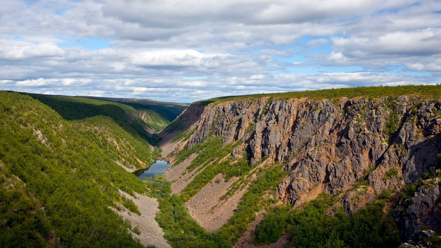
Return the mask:
{"type": "MultiPolygon", "coordinates": [[[[43,101],[60,107],[61,99],[43,101]]],[[[67,102],[97,108],[115,106],[83,100],[67,102]]],[[[63,108],[58,110],[66,116],[63,108]]],[[[71,120],[84,115],[86,112],[79,109],[71,120]]],[[[72,247],[141,247],[127,231],[130,223],[123,222],[108,208],[117,208],[117,202],[136,213],[137,209],[130,207],[134,204],[121,198],[118,189],[129,194],[148,191],[145,184],[114,162],[127,159],[124,152],[109,152],[114,146],[109,145],[107,137],[122,139],[118,143],[127,147],[121,149],[132,154],[146,147],[145,143],[132,140],[120,126],[118,119],[103,116],[82,124],[70,123],[40,101],[0,91],[2,246],[41,247],[59,243],[72,247]],[[91,132],[91,128],[97,128],[97,132],[91,132]]],[[[138,154],[139,159],[151,159],[147,150],[143,152],[146,154],[138,154]]]]}

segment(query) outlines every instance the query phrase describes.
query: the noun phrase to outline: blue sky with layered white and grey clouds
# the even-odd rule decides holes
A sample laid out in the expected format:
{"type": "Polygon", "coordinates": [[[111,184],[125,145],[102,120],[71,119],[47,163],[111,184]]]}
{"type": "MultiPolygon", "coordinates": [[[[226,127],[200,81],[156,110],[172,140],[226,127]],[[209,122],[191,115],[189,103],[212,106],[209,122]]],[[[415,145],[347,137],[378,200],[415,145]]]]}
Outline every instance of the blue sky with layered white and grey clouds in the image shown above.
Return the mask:
{"type": "Polygon", "coordinates": [[[190,103],[435,83],[439,0],[0,0],[0,90],[190,103]]]}

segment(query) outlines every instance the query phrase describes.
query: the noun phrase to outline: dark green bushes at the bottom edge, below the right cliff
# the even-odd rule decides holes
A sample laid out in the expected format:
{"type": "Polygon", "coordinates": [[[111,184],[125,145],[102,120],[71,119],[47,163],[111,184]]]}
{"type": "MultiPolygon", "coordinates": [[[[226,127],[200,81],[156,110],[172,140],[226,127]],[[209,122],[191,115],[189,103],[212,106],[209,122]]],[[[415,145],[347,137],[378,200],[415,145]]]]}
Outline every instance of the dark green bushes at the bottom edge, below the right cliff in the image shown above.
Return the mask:
{"type": "Polygon", "coordinates": [[[348,216],[343,207],[328,210],[337,197],[321,194],[292,211],[289,206],[270,209],[256,229],[259,244],[277,241],[285,232],[291,240],[288,247],[397,247],[401,243],[392,210],[383,214],[386,199],[377,199],[348,216]]]}

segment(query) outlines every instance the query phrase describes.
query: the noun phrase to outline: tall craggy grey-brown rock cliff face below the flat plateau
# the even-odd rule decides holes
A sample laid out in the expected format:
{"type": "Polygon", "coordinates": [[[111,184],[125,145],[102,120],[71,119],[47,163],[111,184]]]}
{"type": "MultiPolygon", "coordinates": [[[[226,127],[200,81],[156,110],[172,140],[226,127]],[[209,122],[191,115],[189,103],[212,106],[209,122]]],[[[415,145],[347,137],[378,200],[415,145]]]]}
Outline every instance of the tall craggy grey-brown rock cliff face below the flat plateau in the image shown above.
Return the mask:
{"type": "Polygon", "coordinates": [[[441,152],[441,101],[417,97],[226,101],[205,107],[194,125],[188,147],[214,131],[224,145],[243,143],[234,158],[286,164],[276,198],[295,203],[323,184],[323,192],[345,191],[348,212],[422,177],[441,152]]]}

